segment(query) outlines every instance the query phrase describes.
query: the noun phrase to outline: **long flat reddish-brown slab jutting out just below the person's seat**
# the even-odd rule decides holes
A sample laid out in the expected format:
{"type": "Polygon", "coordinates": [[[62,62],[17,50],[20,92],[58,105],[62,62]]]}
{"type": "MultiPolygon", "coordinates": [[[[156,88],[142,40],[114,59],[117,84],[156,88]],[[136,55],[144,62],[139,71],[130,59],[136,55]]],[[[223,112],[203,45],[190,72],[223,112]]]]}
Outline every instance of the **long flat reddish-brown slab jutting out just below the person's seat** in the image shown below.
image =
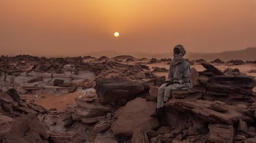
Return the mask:
{"type": "Polygon", "coordinates": [[[228,111],[225,113],[217,112],[211,108],[213,101],[210,100],[195,100],[190,101],[187,99],[172,99],[168,103],[164,104],[166,111],[179,110],[180,112],[192,113],[192,115],[201,118],[204,121],[210,123],[226,123],[233,125],[237,121],[253,121],[253,117],[246,116],[245,108],[241,108],[237,105],[226,105],[228,111]]]}

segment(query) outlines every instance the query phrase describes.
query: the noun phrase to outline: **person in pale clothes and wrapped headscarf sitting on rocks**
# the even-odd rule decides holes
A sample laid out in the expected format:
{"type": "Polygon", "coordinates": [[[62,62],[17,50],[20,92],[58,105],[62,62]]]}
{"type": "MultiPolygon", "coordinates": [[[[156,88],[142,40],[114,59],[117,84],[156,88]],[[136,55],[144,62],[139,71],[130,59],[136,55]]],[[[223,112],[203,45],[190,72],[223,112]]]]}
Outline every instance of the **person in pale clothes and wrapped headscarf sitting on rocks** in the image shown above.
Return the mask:
{"type": "Polygon", "coordinates": [[[182,45],[177,45],[173,50],[173,60],[170,63],[168,81],[162,84],[158,89],[156,112],[151,116],[163,116],[164,102],[168,102],[171,97],[171,91],[191,89],[189,62],[183,59],[186,51],[182,45]]]}

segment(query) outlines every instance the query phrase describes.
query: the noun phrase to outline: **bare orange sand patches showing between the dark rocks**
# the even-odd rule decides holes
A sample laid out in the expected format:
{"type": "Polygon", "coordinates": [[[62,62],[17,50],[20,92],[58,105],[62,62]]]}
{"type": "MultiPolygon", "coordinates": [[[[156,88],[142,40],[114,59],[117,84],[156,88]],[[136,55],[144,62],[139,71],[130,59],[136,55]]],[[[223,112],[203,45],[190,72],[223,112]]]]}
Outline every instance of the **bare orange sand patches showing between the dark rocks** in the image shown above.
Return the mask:
{"type": "MultiPolygon", "coordinates": [[[[92,60],[92,59],[91,59],[92,60]]],[[[135,62],[129,62],[129,64],[134,64],[138,61],[135,62]]],[[[146,63],[147,61],[139,61],[140,63],[146,63]]],[[[127,62],[124,62],[127,63],[127,62]]],[[[167,62],[163,63],[152,63],[152,64],[147,64],[148,67],[150,67],[150,70],[153,70],[153,67],[164,67],[164,68],[169,68],[169,65],[167,62]]],[[[238,68],[242,73],[245,73],[250,76],[254,76],[256,78],[256,73],[249,73],[248,71],[250,70],[256,70],[256,64],[245,64],[245,65],[218,65],[214,64],[215,67],[220,69],[221,71],[224,71],[226,68],[238,68]]],[[[202,67],[202,65],[191,65],[191,68],[196,68],[197,71],[203,71],[205,68],[202,67]]],[[[109,74],[109,78],[111,76],[115,76],[118,73],[111,73],[109,74]]],[[[155,75],[158,76],[166,76],[166,79],[168,77],[168,73],[154,73],[155,75]]],[[[256,88],[253,89],[256,92],[256,88]]],[[[64,94],[64,95],[54,95],[54,94],[25,94],[22,95],[23,98],[27,99],[28,101],[35,102],[35,104],[42,105],[46,109],[50,108],[56,108],[57,110],[62,110],[66,108],[67,106],[72,106],[74,105],[74,99],[76,97],[83,97],[83,96],[88,96],[88,95],[95,95],[95,91],[92,89],[88,89],[87,91],[76,91],[74,93],[70,94],[64,94]]]]}

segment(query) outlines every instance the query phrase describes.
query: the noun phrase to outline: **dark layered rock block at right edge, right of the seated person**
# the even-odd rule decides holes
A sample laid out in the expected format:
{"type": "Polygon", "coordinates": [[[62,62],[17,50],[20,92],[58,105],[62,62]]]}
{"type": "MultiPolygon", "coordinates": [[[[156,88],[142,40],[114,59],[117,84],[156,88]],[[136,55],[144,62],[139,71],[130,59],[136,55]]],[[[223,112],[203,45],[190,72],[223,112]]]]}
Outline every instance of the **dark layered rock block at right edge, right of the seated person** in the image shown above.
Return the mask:
{"type": "Polygon", "coordinates": [[[254,78],[250,76],[213,76],[208,79],[203,99],[247,105],[254,102],[252,88],[254,78]]]}

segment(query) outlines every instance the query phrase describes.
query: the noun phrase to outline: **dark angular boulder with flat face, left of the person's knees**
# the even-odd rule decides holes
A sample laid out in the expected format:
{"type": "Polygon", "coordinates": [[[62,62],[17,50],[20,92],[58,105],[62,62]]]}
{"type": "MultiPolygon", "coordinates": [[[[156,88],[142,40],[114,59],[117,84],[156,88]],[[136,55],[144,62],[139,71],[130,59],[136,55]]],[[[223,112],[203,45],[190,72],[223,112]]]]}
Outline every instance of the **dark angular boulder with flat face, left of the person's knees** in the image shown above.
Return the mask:
{"type": "Polygon", "coordinates": [[[145,91],[143,84],[121,79],[98,80],[95,89],[100,102],[103,104],[132,98],[145,91]]]}

